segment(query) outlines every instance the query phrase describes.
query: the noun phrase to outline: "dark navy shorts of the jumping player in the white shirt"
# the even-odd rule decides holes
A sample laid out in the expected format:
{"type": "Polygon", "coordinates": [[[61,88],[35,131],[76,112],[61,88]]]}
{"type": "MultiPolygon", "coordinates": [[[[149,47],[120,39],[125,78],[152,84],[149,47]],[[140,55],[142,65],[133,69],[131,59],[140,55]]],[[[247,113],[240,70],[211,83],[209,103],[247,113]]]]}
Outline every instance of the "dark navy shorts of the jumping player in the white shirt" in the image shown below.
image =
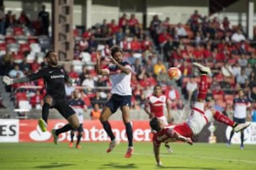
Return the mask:
{"type": "Polygon", "coordinates": [[[118,94],[113,94],[109,101],[105,104],[110,108],[111,113],[115,113],[117,108],[122,106],[132,106],[132,96],[120,96],[118,94]]]}

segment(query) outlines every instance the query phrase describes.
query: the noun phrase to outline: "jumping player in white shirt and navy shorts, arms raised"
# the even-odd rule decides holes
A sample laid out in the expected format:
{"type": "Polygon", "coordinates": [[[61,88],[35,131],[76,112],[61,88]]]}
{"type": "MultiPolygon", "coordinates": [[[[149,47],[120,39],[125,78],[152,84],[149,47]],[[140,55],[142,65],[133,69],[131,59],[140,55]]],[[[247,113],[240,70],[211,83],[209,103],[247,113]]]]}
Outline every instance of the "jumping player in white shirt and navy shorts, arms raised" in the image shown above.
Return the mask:
{"type": "Polygon", "coordinates": [[[132,125],[129,121],[129,110],[132,103],[132,88],[131,88],[131,71],[132,68],[128,62],[122,60],[122,50],[118,46],[113,46],[110,48],[112,62],[107,69],[101,69],[101,56],[100,52],[97,51],[97,64],[96,70],[97,74],[109,75],[112,81],[111,98],[105,104],[102,109],[102,114],[100,115],[100,122],[103,125],[104,130],[110,137],[110,146],[107,149],[108,152],[112,152],[112,149],[119,144],[119,140],[114,137],[108,118],[110,115],[117,111],[117,108],[121,108],[122,119],[125,125],[127,138],[128,138],[128,149],[125,154],[126,158],[132,157],[134,152],[133,147],[133,135],[132,135],[132,125]]]}

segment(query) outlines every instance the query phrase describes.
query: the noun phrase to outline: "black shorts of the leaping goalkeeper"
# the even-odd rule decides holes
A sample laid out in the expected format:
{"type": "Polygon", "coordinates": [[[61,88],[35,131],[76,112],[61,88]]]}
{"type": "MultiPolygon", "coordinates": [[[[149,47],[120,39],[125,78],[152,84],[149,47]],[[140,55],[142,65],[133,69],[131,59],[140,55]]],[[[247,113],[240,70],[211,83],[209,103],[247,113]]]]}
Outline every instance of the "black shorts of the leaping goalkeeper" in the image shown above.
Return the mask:
{"type": "Polygon", "coordinates": [[[70,115],[75,114],[75,111],[71,106],[68,104],[67,99],[58,99],[58,98],[53,98],[53,106],[51,108],[57,109],[57,111],[62,115],[65,119],[68,119],[70,115]]]}

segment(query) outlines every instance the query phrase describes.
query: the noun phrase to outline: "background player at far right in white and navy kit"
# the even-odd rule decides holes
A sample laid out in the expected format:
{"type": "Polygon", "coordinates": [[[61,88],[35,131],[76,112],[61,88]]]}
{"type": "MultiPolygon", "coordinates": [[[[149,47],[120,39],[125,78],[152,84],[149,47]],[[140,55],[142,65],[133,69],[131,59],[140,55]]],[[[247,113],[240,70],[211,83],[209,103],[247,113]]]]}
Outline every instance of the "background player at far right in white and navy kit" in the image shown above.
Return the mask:
{"type": "MultiPolygon", "coordinates": [[[[234,98],[233,100],[233,108],[234,108],[234,115],[233,115],[233,120],[236,123],[245,123],[246,120],[246,111],[247,108],[250,108],[250,101],[248,100],[248,98],[245,98],[245,92],[242,91],[242,89],[240,89],[238,91],[238,98],[234,98]]],[[[251,110],[251,109],[250,109],[251,110]]],[[[230,132],[230,138],[228,140],[227,146],[229,147],[231,144],[231,139],[234,135],[234,130],[232,130],[230,132]]],[[[244,149],[244,139],[245,135],[244,135],[244,131],[241,130],[241,145],[240,145],[240,149],[244,149]]]]}

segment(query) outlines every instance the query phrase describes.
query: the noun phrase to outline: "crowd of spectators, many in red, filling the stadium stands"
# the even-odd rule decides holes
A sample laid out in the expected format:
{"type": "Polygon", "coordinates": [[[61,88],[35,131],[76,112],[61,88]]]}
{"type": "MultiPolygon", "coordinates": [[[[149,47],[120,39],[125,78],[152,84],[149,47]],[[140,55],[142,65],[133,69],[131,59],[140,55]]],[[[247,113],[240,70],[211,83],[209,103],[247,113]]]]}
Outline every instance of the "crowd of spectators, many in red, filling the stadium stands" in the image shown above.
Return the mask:
{"type": "MultiPolygon", "coordinates": [[[[45,7],[43,11],[46,12],[45,7]]],[[[4,36],[0,38],[0,74],[23,77],[43,67],[46,64],[43,56],[50,49],[46,13],[39,13],[38,21],[30,21],[24,11],[18,19],[11,11],[0,16],[5,18],[1,20],[4,30],[0,34],[4,36]],[[38,29],[41,26],[46,28],[38,29]]],[[[164,94],[170,98],[171,109],[182,109],[198,86],[198,72],[192,62],[203,63],[212,70],[208,78],[208,106],[230,114],[238,89],[244,89],[251,101],[256,100],[255,48],[247,40],[242,26],[231,26],[228,17],[218,21],[218,18],[201,16],[195,10],[186,24],[173,24],[171,17],[161,21],[155,15],[149,28],[143,29],[134,14],[124,13],[118,21],[105,19],[83,33],[75,29],[74,37],[74,60],[84,64],[82,69],[76,64],[67,69],[76,86],[66,85],[66,94],[67,98],[72,98],[73,91],[81,89],[88,108],[95,104],[102,108],[110,98],[110,80],[97,75],[91,66],[96,61],[96,50],[100,50],[102,66],[107,67],[112,45],[122,47],[125,60],[132,65],[133,109],[144,107],[146,96],[156,84],[161,84],[164,94]],[[171,81],[167,74],[169,67],[179,67],[181,79],[171,81]]],[[[33,107],[40,108],[45,94],[43,86],[44,82],[39,79],[15,84],[6,90],[11,92],[16,107],[18,101],[25,98],[33,107]],[[16,90],[24,85],[42,88],[16,90]]]]}

